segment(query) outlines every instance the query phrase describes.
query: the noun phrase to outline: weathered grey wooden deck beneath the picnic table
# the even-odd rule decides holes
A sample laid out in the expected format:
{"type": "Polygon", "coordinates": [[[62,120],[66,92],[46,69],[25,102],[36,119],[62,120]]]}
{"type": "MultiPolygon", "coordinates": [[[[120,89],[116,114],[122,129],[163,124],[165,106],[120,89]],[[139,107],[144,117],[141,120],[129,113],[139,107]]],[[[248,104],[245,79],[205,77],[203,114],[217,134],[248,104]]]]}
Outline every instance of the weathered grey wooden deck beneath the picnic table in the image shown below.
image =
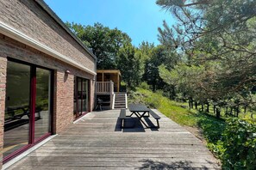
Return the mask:
{"type": "Polygon", "coordinates": [[[9,169],[220,169],[197,137],[153,111],[159,129],[122,130],[120,110],[91,112],[9,169]]]}

